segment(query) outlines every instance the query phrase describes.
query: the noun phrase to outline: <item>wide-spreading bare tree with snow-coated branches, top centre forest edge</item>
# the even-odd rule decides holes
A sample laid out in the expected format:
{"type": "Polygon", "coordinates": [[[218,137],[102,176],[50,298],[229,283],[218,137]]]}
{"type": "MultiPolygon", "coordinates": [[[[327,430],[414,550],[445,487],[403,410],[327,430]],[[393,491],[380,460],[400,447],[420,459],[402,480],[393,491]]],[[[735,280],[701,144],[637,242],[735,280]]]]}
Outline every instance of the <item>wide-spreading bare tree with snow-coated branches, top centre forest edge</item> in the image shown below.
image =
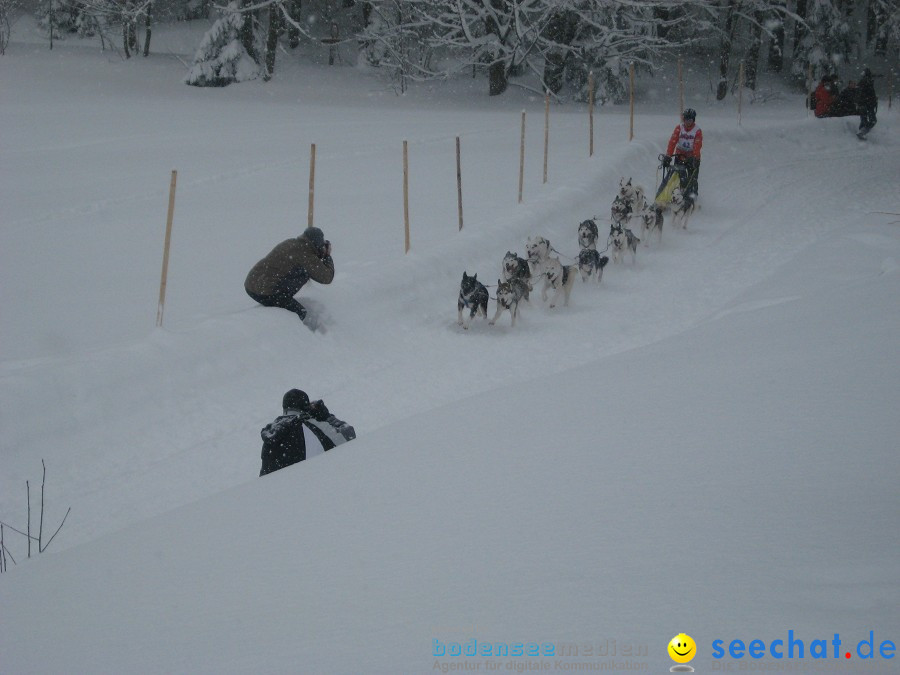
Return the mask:
{"type": "MultiPolygon", "coordinates": [[[[540,88],[585,96],[594,71],[599,99],[621,100],[629,63],[650,66],[685,6],[709,0],[373,0],[364,36],[369,63],[414,78],[472,68],[491,95],[510,77],[534,74],[540,88]],[[432,67],[442,58],[443,71],[432,67]]],[[[684,33],[682,33],[683,39],[684,33]]]]}

